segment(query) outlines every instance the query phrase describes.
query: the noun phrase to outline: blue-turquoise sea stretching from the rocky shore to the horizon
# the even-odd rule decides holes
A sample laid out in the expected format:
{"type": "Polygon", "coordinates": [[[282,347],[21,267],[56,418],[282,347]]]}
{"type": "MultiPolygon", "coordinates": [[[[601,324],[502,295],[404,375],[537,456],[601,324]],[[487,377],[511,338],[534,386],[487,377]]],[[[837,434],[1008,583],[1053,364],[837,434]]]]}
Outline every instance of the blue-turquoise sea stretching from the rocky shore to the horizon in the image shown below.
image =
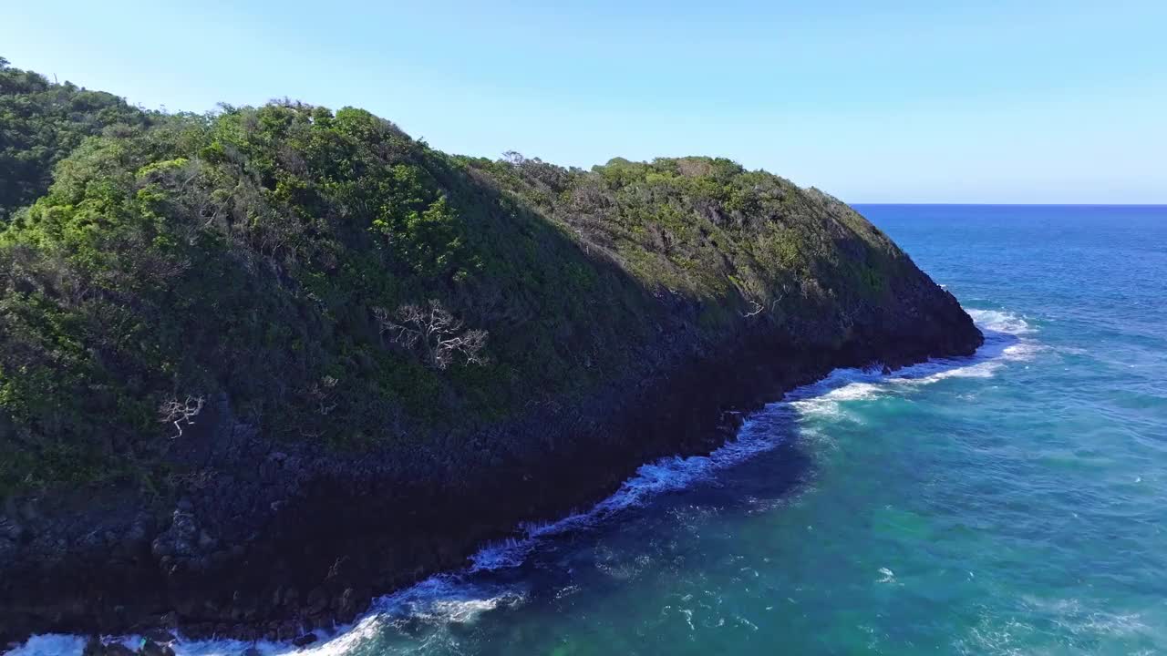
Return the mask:
{"type": "Polygon", "coordinates": [[[314,650],[1167,652],[1167,208],[860,209],[976,357],[836,372],[314,650]]]}

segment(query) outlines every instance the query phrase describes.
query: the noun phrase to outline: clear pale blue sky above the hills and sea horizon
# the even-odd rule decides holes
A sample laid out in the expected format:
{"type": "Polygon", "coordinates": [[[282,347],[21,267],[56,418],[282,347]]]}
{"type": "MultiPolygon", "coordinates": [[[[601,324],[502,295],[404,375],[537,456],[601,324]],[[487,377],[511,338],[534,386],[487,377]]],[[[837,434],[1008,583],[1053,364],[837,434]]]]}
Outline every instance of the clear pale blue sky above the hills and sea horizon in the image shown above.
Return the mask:
{"type": "Polygon", "coordinates": [[[711,154],[851,202],[1167,202],[1167,0],[14,1],[13,65],[445,151],[711,154]],[[489,6],[497,5],[497,6],[489,6]]]}

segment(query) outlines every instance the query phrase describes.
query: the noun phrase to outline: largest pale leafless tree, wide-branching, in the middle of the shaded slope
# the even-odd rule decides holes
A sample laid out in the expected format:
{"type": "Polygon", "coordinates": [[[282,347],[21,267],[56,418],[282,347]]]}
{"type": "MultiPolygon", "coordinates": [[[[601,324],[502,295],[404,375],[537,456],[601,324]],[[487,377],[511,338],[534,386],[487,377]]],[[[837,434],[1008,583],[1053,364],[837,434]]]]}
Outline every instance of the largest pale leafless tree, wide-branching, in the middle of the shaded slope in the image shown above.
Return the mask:
{"type": "Polygon", "coordinates": [[[426,306],[403,305],[390,314],[385,308],[373,309],[380,332],[391,342],[407,350],[420,349],[428,367],[448,368],[459,357],[467,364],[485,364],[485,330],[469,330],[461,319],[449,313],[441,302],[431,300],[426,306]]]}

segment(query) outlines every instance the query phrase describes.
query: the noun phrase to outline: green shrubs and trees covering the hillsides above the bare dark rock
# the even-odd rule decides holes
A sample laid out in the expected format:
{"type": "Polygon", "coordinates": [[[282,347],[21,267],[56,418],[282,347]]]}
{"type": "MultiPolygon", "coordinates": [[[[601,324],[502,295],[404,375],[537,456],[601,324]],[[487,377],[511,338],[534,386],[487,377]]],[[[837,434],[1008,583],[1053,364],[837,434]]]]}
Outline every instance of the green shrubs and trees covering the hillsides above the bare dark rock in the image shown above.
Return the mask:
{"type": "Polygon", "coordinates": [[[728,160],[490,161],[351,107],[145,114],[0,76],[0,495],[154,486],[224,396],[280,439],[457,448],[656,367],[662,322],[686,348],[846,328],[909,266],[838,201],[728,160]]]}

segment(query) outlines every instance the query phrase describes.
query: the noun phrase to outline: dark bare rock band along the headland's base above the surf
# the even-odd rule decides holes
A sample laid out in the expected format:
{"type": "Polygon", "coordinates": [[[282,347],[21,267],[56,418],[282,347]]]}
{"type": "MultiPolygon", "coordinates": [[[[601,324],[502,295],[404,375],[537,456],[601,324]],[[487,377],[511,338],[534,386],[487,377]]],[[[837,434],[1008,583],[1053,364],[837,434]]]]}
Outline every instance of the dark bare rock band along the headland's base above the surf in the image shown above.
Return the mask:
{"type": "Polygon", "coordinates": [[[713,451],[733,438],[742,412],[834,368],[897,368],[980,346],[951,294],[930,280],[909,292],[903,307],[873,310],[843,343],[747,333],[703,357],[676,356],[654,378],[614,381],[584,403],[532,407],[442,458],[273,442],[225,398],[212,399],[174,454],[200,463],[176,498],[120,491],[8,502],[0,644],[40,633],[159,630],[310,641],[377,595],[463,567],[519,522],[588,507],[647,461],[713,451]],[[538,446],[489,449],[502,434],[537,435],[538,446]]]}

